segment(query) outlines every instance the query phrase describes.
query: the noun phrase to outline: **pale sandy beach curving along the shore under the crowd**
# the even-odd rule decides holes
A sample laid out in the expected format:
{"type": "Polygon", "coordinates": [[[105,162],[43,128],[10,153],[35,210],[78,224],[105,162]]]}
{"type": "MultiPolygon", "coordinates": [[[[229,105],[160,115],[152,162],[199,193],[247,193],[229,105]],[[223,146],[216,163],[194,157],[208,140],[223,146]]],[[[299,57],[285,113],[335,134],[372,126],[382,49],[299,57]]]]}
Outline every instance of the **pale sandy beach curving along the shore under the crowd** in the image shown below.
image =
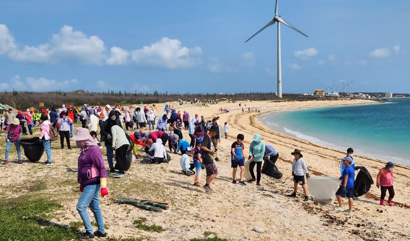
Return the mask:
{"type": "MultiPolygon", "coordinates": [[[[221,102],[209,106],[177,105],[177,110],[188,111],[191,116],[203,115],[206,120],[220,116],[220,121],[229,124],[228,139],[221,138],[216,162],[219,175],[212,183],[216,192],[207,194],[201,187],[193,186],[194,177],[181,174],[179,159],[181,155],[172,154],[167,164],[148,164],[144,152],[139,151],[137,159],[132,163],[123,178],[108,178],[110,195],[101,198],[100,207],[104,214],[109,236],[146,237],[147,240],[189,240],[201,238],[205,231],[215,232],[220,238],[229,240],[408,240],[410,228],[408,215],[410,206],[410,167],[396,165],[394,169],[394,187],[396,196],[394,206],[380,206],[380,190],[376,185],[370,192],[354,202],[353,214],[335,211],[336,198],[326,205],[317,204],[312,198],[302,202],[302,190],[299,188],[297,198],[287,197],[292,193],[290,154],[295,148],[303,153],[311,176],[339,176],[340,158],[345,150],[328,147],[299,140],[284,134],[271,131],[257,117],[274,111],[299,110],[315,107],[371,104],[366,100],[344,101],[309,101],[309,102],[221,102]],[[241,107],[246,104],[245,112],[241,107]],[[219,112],[220,107],[230,108],[229,113],[219,112]],[[248,108],[261,110],[261,113],[247,111],[248,108]],[[274,179],[262,174],[261,186],[247,183],[247,186],[232,184],[230,147],[236,135],[245,136],[245,153],[254,134],[260,134],[265,144],[270,144],[279,152],[276,162],[283,173],[281,179],[274,179]],[[167,200],[170,209],[161,213],[151,212],[128,204],[117,204],[115,197],[149,197],[167,200]],[[146,217],[148,224],[160,225],[166,230],[160,233],[138,230],[133,221],[138,217],[146,217]],[[253,231],[257,226],[263,233],[253,231]]],[[[163,113],[163,104],[157,104],[157,117],[163,113]]],[[[79,123],[76,123],[78,128],[79,123]]],[[[188,131],[183,130],[184,139],[189,140],[188,131]]],[[[39,128],[35,129],[35,134],[39,128]]],[[[23,136],[24,138],[25,136],[23,136]]],[[[75,143],[73,144],[75,146],[75,143]]],[[[346,144],[348,146],[348,144],[346,144]]],[[[58,210],[52,222],[69,225],[70,222],[81,221],[75,205],[80,195],[76,182],[78,148],[61,150],[59,141],[52,144],[53,165],[44,167],[39,163],[25,160],[18,165],[15,151],[10,154],[10,164],[0,166],[0,200],[25,196],[36,198],[46,196],[55,199],[64,206],[58,210]],[[38,187],[41,188],[38,188],[38,187]],[[32,196],[30,196],[32,195],[32,196]]],[[[14,148],[14,147],[13,147],[14,148]]],[[[13,149],[12,148],[12,149],[13,149]]],[[[355,148],[355,147],[353,147],[355,148]]],[[[4,156],[3,147],[0,155],[4,156]]],[[[168,146],[166,147],[168,150],[168,146]]],[[[105,148],[103,157],[106,160],[105,148]]],[[[24,153],[23,153],[24,156],[24,153]]],[[[3,157],[2,157],[3,158],[3,157]]],[[[44,154],[41,161],[46,159],[44,154]]],[[[383,160],[355,155],[356,164],[364,166],[371,173],[374,182],[383,160]]],[[[106,162],[106,166],[108,166],[106,162]]],[[[357,174],[357,172],[356,172],[357,174]]],[[[239,178],[239,171],[237,179],[239,178]]],[[[202,184],[205,173],[202,172],[202,184]]],[[[309,182],[309,181],[308,181],[309,182]]],[[[386,197],[387,198],[387,197],[386,197]]],[[[344,200],[345,207],[347,199],[344,200]]],[[[80,230],[84,230],[81,227],[80,230]]]]}

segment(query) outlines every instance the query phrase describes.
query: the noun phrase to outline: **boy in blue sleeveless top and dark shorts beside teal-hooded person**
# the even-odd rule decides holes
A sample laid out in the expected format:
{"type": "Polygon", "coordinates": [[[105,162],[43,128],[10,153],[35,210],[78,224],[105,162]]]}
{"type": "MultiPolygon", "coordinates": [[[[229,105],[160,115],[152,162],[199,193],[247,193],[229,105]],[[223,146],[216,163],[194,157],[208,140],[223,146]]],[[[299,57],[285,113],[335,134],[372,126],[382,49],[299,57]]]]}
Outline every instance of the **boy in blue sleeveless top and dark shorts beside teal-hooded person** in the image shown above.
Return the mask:
{"type": "MultiPolygon", "coordinates": [[[[227,123],[225,123],[225,127],[227,123]]],[[[227,132],[225,132],[225,136],[227,136],[227,132]]],[[[240,179],[239,184],[245,186],[246,184],[243,182],[243,174],[245,172],[245,164],[243,160],[243,156],[245,155],[245,151],[243,150],[243,139],[245,137],[243,134],[238,134],[236,136],[236,142],[234,142],[231,146],[231,167],[232,167],[232,183],[236,184],[236,170],[240,168],[240,179]]]]}

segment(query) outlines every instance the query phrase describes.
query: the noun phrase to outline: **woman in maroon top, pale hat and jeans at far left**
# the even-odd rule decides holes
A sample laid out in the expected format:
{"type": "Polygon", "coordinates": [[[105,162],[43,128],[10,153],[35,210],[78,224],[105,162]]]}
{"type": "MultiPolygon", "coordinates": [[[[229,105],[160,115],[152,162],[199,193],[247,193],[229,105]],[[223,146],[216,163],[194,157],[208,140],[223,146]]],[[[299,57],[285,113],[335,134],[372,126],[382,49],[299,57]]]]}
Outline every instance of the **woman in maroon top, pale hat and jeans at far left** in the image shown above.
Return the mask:
{"type": "Polygon", "coordinates": [[[12,119],[10,125],[5,129],[4,136],[6,138],[6,152],[4,153],[4,162],[3,164],[9,164],[9,151],[11,145],[14,144],[17,151],[17,163],[23,164],[22,160],[22,151],[20,150],[20,135],[23,133],[23,128],[20,125],[18,118],[12,119]]]}

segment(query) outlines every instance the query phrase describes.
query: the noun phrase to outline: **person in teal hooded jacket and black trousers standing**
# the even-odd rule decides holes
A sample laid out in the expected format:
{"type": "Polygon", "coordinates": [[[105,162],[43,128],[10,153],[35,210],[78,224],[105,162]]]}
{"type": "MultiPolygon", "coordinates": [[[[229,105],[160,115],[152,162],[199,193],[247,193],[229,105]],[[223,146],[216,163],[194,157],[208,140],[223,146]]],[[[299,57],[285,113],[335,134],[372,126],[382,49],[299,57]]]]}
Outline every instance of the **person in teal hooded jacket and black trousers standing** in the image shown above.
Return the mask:
{"type": "Polygon", "coordinates": [[[260,186],[262,159],[263,159],[264,154],[265,154],[265,144],[262,142],[260,134],[256,134],[254,135],[251,146],[249,147],[248,160],[251,159],[252,157],[254,158],[253,162],[249,164],[249,171],[251,172],[251,176],[252,176],[252,179],[250,181],[255,182],[256,180],[257,186],[260,186]],[[256,178],[253,172],[255,165],[256,165],[256,178]]]}

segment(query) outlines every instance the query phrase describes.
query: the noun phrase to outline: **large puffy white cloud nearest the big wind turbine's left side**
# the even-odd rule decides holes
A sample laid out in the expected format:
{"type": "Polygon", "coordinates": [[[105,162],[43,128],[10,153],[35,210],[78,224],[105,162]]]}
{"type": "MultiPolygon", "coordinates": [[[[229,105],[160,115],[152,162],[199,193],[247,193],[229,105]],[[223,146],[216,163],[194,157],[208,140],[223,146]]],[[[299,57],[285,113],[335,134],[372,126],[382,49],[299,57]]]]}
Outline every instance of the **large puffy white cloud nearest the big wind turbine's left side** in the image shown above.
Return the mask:
{"type": "Polygon", "coordinates": [[[200,47],[189,49],[178,39],[162,37],[159,42],[132,51],[132,60],[137,65],[159,66],[167,69],[187,68],[199,64],[196,56],[202,54],[200,47]]]}

